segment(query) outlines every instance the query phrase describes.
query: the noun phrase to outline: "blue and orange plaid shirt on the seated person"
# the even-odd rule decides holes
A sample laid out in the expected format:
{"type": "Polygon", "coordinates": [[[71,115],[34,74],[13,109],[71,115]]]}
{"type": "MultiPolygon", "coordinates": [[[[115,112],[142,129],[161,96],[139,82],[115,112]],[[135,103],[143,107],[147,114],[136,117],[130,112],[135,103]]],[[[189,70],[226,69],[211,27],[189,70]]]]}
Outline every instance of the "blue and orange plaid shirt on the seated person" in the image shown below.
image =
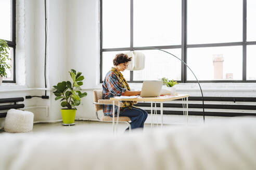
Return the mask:
{"type": "MultiPolygon", "coordinates": [[[[114,96],[121,96],[126,91],[122,88],[122,85],[117,75],[110,70],[102,84],[103,87],[103,99],[109,99],[114,96]]],[[[112,116],[113,105],[103,105],[103,112],[105,116],[112,116]]],[[[115,113],[117,113],[117,106],[114,107],[115,113]]]]}

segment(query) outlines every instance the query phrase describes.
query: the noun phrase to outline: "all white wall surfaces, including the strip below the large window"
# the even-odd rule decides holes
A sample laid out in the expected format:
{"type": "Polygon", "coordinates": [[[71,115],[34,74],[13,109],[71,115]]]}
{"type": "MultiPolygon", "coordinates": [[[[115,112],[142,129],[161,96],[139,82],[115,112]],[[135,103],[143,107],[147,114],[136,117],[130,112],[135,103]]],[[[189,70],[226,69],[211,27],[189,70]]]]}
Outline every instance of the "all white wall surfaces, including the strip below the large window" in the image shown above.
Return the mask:
{"type": "MultiPolygon", "coordinates": [[[[92,90],[99,84],[99,1],[48,0],[47,1],[47,87],[70,79],[73,68],[85,76],[77,119],[95,119],[92,90]]],[[[17,0],[17,84],[0,87],[0,98],[44,95],[44,0],[17,0]],[[37,89],[36,89],[37,88],[37,89]],[[42,88],[42,89],[38,89],[42,88]],[[13,90],[18,91],[13,91],[13,90]]],[[[202,83],[204,96],[256,96],[255,83],[202,83]]],[[[131,84],[140,89],[141,84],[131,84]]],[[[197,83],[178,84],[180,93],[200,96],[197,83]]],[[[25,100],[25,107],[47,106],[30,109],[35,121],[61,119],[60,102],[52,91],[49,100],[33,98],[25,100]]],[[[3,124],[0,120],[0,127],[3,124]]]]}

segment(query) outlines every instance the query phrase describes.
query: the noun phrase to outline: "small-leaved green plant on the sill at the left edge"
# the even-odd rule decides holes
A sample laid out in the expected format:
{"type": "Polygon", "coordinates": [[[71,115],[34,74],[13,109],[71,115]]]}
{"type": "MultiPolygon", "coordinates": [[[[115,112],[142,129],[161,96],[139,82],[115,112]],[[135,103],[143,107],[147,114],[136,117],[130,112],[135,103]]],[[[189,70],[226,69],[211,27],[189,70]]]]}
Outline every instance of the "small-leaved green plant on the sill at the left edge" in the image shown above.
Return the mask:
{"type": "Polygon", "coordinates": [[[8,50],[9,47],[6,40],[0,39],[0,85],[2,84],[3,78],[7,78],[6,70],[11,67],[8,62],[11,60],[8,50]]]}

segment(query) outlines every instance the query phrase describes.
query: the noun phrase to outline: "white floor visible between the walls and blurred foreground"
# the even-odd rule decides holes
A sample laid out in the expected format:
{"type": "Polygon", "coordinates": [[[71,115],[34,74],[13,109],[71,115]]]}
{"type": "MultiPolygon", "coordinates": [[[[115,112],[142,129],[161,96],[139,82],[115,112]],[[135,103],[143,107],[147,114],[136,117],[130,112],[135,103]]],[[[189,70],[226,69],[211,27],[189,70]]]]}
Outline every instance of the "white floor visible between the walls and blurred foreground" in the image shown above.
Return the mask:
{"type": "MultiPolygon", "coordinates": [[[[227,117],[206,117],[205,123],[217,122],[220,120],[229,119],[227,117]]],[[[164,124],[163,128],[170,128],[172,126],[182,126],[187,125],[186,119],[183,116],[178,115],[164,115],[164,124]]],[[[150,125],[151,117],[148,116],[144,126],[144,132],[151,132],[150,125]]],[[[159,129],[160,117],[158,120],[155,119],[155,122],[158,122],[158,126],[155,125],[154,129],[159,129]]],[[[188,125],[200,125],[203,124],[202,116],[189,116],[188,125]]],[[[127,123],[120,123],[118,125],[118,133],[124,133],[124,130],[127,128],[127,123]]],[[[112,134],[112,122],[98,122],[98,121],[75,121],[73,126],[63,126],[62,122],[57,123],[35,123],[33,126],[33,131],[29,132],[30,134],[36,133],[75,133],[75,132],[84,132],[84,133],[109,133],[112,134]]],[[[0,133],[6,133],[4,130],[0,130],[0,133]]]]}

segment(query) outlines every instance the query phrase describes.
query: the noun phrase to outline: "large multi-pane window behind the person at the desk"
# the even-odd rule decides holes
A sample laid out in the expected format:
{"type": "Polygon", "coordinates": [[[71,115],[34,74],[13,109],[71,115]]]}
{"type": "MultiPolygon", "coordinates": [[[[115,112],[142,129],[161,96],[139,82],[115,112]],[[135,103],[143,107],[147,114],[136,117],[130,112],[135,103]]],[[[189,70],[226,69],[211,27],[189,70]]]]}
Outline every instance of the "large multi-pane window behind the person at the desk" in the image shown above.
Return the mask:
{"type": "Polygon", "coordinates": [[[100,82],[115,54],[145,54],[129,82],[162,77],[179,82],[256,82],[254,0],[101,0],[100,82]],[[115,5],[113,5],[115,4],[115,5]],[[120,10],[122,9],[122,10],[120,10]],[[118,13],[118,15],[117,15],[118,13]]]}

